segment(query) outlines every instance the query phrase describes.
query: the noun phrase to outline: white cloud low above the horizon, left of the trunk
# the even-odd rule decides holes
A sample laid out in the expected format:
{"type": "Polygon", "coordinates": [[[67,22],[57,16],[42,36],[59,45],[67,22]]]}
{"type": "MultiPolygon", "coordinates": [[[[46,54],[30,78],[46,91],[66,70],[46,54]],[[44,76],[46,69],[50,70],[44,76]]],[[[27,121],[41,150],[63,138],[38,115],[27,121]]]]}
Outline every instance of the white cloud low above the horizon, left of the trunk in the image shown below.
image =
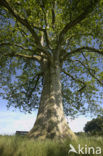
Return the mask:
{"type": "Polygon", "coordinates": [[[36,113],[0,112],[0,134],[14,134],[17,130],[29,131],[35,119],[36,113]]]}

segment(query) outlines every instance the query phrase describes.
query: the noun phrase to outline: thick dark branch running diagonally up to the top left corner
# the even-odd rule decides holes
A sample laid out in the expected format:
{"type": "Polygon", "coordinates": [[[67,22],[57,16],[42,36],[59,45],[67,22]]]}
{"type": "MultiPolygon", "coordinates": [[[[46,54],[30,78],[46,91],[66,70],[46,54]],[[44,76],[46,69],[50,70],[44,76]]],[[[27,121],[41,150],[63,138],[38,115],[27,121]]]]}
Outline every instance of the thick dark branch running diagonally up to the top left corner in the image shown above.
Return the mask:
{"type": "Polygon", "coordinates": [[[22,25],[24,25],[32,34],[33,38],[35,39],[35,42],[37,45],[40,45],[40,39],[34,29],[31,27],[31,25],[28,23],[27,19],[24,19],[20,17],[17,13],[16,10],[13,10],[10,6],[10,4],[6,0],[0,0],[0,5],[4,6],[5,8],[8,9],[8,11],[19,21],[22,25]]]}

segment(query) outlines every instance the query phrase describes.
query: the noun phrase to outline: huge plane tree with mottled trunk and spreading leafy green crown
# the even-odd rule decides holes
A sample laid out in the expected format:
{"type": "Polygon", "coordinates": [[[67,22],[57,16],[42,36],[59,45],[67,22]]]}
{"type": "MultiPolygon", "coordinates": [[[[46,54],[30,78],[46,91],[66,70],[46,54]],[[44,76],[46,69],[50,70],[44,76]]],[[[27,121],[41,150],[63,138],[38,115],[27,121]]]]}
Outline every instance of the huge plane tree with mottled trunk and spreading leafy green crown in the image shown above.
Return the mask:
{"type": "Polygon", "coordinates": [[[102,0],[0,0],[0,95],[38,109],[35,138],[74,138],[65,115],[102,113],[102,0]]]}

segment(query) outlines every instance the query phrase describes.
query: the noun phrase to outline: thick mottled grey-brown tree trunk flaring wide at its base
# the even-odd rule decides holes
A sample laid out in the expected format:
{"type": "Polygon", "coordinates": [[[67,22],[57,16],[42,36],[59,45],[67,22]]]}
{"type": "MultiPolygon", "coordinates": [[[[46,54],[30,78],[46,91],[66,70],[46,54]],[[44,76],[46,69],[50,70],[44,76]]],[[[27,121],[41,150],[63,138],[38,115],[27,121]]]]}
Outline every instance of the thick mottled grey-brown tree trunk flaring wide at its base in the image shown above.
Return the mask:
{"type": "Polygon", "coordinates": [[[34,138],[75,138],[66,122],[61,94],[60,65],[43,63],[43,90],[34,127],[29,132],[34,138]]]}

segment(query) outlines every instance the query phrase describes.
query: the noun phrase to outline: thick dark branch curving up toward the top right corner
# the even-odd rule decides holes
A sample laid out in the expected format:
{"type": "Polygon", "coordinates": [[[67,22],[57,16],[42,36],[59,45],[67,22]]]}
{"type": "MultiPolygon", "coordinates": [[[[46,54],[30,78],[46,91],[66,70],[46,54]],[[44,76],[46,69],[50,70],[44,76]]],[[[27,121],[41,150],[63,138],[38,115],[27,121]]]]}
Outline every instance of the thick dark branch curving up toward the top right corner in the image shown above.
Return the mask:
{"type": "MultiPolygon", "coordinates": [[[[94,0],[94,6],[98,2],[99,2],[98,0],[94,0]]],[[[92,7],[93,6],[91,6],[91,3],[90,3],[89,5],[86,6],[86,8],[83,10],[81,15],[79,15],[76,19],[74,19],[73,21],[71,21],[70,23],[67,23],[65,25],[65,27],[63,28],[63,30],[59,34],[58,47],[60,46],[61,42],[63,41],[64,35],[68,32],[68,30],[71,29],[72,27],[74,27],[75,25],[77,25],[78,23],[80,23],[81,21],[83,21],[88,16],[88,14],[93,11],[92,7]]]]}

